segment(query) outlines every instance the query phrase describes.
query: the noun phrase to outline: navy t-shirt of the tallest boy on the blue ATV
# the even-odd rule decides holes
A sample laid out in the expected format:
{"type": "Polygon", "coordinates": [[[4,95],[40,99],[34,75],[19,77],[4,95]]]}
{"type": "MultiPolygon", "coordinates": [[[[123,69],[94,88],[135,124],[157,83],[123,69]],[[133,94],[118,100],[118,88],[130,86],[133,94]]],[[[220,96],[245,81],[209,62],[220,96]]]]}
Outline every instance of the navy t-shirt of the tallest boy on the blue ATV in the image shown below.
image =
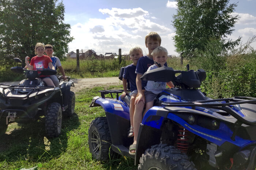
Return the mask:
{"type": "MultiPolygon", "coordinates": [[[[154,60],[149,58],[147,55],[141,57],[137,63],[136,66],[136,74],[141,74],[143,75],[144,72],[147,71],[148,67],[154,65],[154,60]]],[[[167,67],[167,63],[165,63],[165,66],[167,67]]],[[[147,85],[147,81],[142,80],[142,89],[147,85]]]]}

